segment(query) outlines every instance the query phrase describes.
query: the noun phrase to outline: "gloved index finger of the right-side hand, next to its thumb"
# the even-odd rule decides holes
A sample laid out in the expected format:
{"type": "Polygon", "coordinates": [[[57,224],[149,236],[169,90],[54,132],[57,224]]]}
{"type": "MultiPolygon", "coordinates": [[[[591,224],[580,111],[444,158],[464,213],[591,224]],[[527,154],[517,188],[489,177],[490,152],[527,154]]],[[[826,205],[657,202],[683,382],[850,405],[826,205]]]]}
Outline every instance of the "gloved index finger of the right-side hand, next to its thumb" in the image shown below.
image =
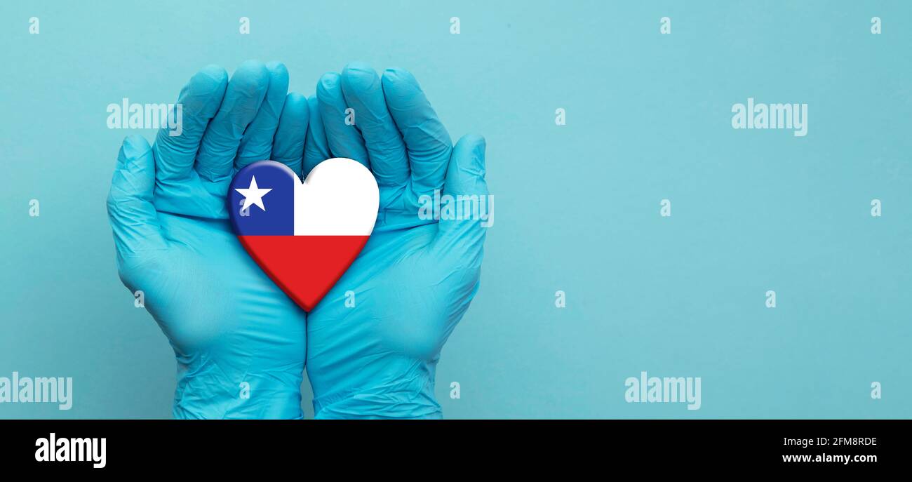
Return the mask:
{"type": "Polygon", "coordinates": [[[383,93],[409,152],[414,191],[431,194],[443,185],[452,152],[450,134],[407,70],[388,68],[383,72],[383,93]]]}

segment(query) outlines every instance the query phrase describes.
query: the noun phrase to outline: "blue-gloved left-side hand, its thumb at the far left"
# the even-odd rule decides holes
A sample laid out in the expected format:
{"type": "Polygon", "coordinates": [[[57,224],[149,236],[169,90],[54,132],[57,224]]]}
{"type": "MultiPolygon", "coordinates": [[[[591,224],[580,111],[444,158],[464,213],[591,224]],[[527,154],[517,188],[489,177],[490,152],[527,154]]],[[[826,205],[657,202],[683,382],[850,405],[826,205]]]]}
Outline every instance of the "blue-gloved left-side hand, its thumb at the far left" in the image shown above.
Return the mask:
{"type": "Polygon", "coordinates": [[[120,278],[142,291],[177,358],[177,418],[300,418],[305,312],[244,252],[227,220],[233,173],[300,171],[306,98],[281,64],[208,67],[181,90],[180,135],[130,136],[108,197],[120,278]]]}

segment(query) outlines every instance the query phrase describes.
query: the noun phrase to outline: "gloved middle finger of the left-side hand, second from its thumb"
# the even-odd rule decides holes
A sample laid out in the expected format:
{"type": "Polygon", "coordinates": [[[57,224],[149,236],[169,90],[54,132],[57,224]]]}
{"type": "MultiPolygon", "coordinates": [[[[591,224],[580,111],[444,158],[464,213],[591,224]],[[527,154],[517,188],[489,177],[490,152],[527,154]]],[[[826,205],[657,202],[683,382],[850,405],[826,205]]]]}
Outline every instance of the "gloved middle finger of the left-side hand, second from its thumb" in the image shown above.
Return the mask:
{"type": "Polygon", "coordinates": [[[256,60],[247,60],[234,71],[222,106],[202,135],[196,156],[196,172],[200,177],[221,182],[231,176],[244,131],[263,103],[269,78],[269,70],[256,60]]]}

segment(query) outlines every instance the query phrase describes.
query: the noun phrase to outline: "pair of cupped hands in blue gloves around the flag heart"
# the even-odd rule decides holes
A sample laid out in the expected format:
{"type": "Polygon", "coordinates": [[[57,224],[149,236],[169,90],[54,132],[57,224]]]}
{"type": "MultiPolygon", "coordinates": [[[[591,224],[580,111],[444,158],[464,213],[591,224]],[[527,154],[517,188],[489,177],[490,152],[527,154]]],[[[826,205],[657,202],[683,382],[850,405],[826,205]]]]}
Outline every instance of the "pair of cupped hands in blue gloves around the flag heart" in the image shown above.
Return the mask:
{"type": "Polygon", "coordinates": [[[402,69],[381,78],[349,64],[324,75],[309,100],[287,88],[279,63],[247,61],[231,79],[204,68],[181,89],[180,136],[163,129],[153,146],[134,135],[120,148],[108,198],[119,275],[143,291],[177,357],[173,414],[300,418],[306,364],[317,418],[439,417],[435,368],[478,289],[485,229],[477,219],[421,219],[419,198],[488,194],[484,140],[453,146],[402,69]],[[283,162],[303,179],[332,157],[374,173],[378,219],[306,313],[239,244],[227,210],[240,206],[225,199],[251,162],[283,162]]]}

